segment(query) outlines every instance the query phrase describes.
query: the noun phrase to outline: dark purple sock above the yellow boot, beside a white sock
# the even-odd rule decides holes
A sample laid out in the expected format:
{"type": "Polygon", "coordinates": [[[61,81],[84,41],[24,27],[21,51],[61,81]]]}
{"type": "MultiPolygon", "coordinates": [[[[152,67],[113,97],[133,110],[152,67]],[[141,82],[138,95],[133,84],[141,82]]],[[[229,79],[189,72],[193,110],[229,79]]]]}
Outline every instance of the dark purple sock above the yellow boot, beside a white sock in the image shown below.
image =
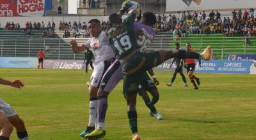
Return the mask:
{"type": "Polygon", "coordinates": [[[104,129],[105,116],[108,109],[108,99],[104,96],[98,98],[98,125],[97,129],[104,129]]]}

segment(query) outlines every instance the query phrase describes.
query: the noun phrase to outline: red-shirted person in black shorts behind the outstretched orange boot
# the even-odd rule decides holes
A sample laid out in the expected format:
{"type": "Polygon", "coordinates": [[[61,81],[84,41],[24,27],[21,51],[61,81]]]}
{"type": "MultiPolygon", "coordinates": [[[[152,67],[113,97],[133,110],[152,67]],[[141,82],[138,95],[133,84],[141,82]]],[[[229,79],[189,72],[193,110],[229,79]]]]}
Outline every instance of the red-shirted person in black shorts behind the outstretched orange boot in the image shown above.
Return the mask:
{"type": "MultiPolygon", "coordinates": [[[[195,52],[195,50],[193,48],[191,48],[191,45],[189,43],[186,44],[186,49],[189,52],[195,52]]],[[[196,78],[196,76],[194,75],[195,67],[196,67],[195,59],[187,58],[186,59],[186,69],[187,69],[187,72],[188,72],[189,80],[194,85],[195,90],[198,90],[198,87],[196,86],[196,83],[199,86],[200,85],[200,79],[196,78]],[[196,83],[195,83],[195,80],[196,80],[196,83]]],[[[199,67],[201,67],[201,60],[200,59],[199,59],[199,67]]]]}

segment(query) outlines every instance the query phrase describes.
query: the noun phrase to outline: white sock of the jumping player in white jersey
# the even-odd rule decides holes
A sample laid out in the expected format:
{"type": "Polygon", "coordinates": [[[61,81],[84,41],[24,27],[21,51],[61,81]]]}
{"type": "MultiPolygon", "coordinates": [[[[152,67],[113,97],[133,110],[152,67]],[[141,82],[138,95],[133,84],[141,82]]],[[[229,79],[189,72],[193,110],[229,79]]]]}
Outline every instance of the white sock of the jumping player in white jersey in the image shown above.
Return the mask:
{"type": "Polygon", "coordinates": [[[98,100],[96,99],[91,99],[90,101],[90,117],[89,117],[89,127],[94,127],[95,126],[95,120],[96,120],[96,115],[97,115],[97,109],[98,109],[98,100]]]}

